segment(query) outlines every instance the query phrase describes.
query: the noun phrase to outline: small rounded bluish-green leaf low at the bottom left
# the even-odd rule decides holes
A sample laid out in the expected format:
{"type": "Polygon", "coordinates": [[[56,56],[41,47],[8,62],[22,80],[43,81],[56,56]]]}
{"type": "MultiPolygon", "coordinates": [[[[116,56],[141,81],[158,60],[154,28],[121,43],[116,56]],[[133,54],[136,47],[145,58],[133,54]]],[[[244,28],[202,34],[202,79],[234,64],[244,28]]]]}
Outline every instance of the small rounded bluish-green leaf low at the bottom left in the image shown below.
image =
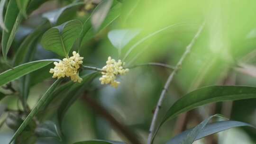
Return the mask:
{"type": "Polygon", "coordinates": [[[61,140],[57,126],[52,121],[46,121],[37,126],[35,133],[38,137],[55,137],[61,140]]]}

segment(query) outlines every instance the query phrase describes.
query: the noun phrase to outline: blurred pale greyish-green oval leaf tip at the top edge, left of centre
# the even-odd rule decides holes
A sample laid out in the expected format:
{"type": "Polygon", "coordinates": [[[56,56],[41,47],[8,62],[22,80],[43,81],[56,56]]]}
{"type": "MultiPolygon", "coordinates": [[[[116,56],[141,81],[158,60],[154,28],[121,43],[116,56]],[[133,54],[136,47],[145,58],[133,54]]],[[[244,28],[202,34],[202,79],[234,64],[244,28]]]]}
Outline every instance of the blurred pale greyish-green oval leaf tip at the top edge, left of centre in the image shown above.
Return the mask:
{"type": "Polygon", "coordinates": [[[101,27],[102,22],[107,17],[113,0],[103,0],[91,14],[91,24],[95,31],[101,27]]]}

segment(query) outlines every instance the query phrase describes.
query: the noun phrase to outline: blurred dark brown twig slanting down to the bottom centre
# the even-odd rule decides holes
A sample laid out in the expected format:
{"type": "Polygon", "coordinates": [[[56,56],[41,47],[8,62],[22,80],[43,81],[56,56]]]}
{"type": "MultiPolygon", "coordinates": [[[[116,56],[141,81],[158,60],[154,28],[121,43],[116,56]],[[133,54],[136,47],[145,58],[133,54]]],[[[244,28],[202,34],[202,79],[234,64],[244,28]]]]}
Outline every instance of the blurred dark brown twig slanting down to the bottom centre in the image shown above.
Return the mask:
{"type": "Polygon", "coordinates": [[[141,142],[137,139],[137,135],[132,133],[127,126],[121,124],[118,120],[115,119],[104,107],[102,107],[96,100],[91,99],[86,93],[84,93],[83,97],[84,101],[96,111],[99,115],[104,117],[110,124],[118,130],[123,136],[127,138],[130,144],[141,144],[141,142]]]}

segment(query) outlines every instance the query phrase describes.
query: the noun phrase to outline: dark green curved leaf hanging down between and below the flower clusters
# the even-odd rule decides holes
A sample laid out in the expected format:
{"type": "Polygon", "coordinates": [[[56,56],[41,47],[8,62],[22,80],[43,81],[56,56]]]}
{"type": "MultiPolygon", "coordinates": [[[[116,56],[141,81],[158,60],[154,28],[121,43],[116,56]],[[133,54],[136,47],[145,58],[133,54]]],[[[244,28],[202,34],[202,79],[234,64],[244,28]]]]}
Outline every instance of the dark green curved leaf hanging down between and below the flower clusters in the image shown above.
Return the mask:
{"type": "Polygon", "coordinates": [[[99,75],[100,75],[99,72],[93,72],[93,73],[87,74],[83,78],[81,83],[74,83],[72,87],[69,88],[57,112],[58,122],[60,124],[60,127],[61,127],[64,115],[68,110],[68,108],[70,108],[70,106],[75,102],[75,100],[81,96],[82,92],[86,90],[86,87],[88,87],[91,81],[94,80],[94,78],[99,75]]]}

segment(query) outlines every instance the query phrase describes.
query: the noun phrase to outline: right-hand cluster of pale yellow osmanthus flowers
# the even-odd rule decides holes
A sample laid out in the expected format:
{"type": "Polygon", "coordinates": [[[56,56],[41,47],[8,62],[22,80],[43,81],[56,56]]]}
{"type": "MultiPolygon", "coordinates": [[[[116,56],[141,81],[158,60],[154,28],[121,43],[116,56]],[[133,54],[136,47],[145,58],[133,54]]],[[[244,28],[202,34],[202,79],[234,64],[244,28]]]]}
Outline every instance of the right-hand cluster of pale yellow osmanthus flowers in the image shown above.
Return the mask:
{"type": "Polygon", "coordinates": [[[125,63],[122,63],[121,60],[116,62],[110,56],[108,57],[108,61],[106,63],[107,65],[102,68],[103,72],[101,72],[101,84],[110,84],[112,87],[117,88],[120,84],[119,81],[116,81],[117,76],[126,74],[129,69],[123,68],[125,63]]]}

